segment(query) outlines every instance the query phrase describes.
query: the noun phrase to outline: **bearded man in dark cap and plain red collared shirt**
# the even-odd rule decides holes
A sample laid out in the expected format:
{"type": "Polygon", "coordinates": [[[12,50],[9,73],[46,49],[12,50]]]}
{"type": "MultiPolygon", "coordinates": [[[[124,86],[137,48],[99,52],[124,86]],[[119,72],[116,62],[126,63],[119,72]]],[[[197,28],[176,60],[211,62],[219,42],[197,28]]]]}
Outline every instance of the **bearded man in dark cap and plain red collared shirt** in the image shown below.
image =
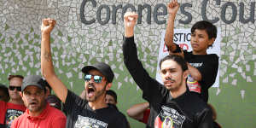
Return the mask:
{"type": "Polygon", "coordinates": [[[41,76],[27,76],[21,86],[20,96],[26,105],[26,112],[15,119],[11,128],[64,128],[66,116],[60,110],[50,107],[41,76]]]}

